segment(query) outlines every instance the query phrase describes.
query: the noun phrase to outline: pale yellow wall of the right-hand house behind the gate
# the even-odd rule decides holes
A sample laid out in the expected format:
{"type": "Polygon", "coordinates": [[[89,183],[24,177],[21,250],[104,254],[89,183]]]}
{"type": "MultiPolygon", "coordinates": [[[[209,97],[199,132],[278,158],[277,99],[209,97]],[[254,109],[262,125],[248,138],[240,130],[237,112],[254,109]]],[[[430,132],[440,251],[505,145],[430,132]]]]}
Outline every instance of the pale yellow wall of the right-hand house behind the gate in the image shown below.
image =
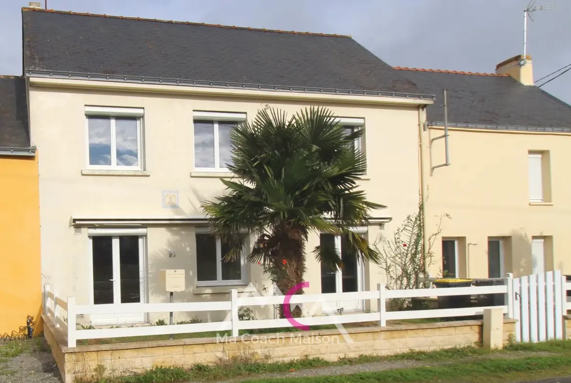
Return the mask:
{"type": "Polygon", "coordinates": [[[488,277],[488,237],[494,236],[505,237],[505,271],[529,275],[532,237],[546,236],[545,270],[571,274],[571,137],[450,129],[451,165],[431,172],[445,162],[444,140],[430,147],[430,139],[442,134],[441,128],[431,128],[423,136],[427,234],[436,231],[441,215],[451,216],[443,219],[436,239],[432,273],[442,265],[441,238],[465,237],[459,244],[460,276],[488,277]],[[549,151],[552,204],[529,203],[528,151],[549,151]]]}

